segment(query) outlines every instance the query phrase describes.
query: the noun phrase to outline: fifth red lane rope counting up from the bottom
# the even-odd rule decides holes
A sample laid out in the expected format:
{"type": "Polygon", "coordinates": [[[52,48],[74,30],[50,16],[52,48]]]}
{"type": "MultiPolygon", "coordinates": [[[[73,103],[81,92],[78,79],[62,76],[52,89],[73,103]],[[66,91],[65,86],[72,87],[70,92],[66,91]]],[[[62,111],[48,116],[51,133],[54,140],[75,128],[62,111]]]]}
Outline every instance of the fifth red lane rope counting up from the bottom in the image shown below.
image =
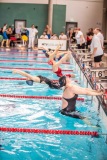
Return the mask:
{"type": "MultiPolygon", "coordinates": [[[[36,63],[48,63],[48,62],[43,62],[43,61],[33,61],[33,60],[0,60],[0,62],[34,62],[36,63]]],[[[65,62],[62,64],[70,64],[69,62],[65,62]]]]}

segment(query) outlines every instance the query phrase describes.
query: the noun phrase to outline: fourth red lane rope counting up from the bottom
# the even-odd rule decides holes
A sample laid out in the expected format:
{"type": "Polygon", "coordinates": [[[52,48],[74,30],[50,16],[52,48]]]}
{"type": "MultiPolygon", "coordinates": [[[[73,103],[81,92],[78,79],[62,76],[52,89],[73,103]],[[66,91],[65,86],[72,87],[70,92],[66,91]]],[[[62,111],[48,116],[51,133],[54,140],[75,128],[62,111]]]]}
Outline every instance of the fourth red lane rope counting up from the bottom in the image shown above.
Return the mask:
{"type": "MultiPolygon", "coordinates": [[[[46,70],[46,71],[52,71],[52,69],[49,69],[49,68],[13,68],[13,67],[2,67],[0,66],[1,69],[24,69],[24,70],[46,70]]],[[[73,70],[71,69],[63,69],[62,71],[64,72],[73,72],[73,70]]]]}

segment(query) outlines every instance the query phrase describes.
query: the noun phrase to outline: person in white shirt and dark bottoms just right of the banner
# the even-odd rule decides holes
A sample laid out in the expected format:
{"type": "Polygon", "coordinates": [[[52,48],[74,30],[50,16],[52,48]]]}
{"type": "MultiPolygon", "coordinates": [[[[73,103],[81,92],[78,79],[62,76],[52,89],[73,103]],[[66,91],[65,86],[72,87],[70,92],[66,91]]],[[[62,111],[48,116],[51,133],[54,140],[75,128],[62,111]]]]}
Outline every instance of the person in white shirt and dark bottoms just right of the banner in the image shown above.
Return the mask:
{"type": "Polygon", "coordinates": [[[75,39],[77,41],[78,49],[85,49],[85,38],[83,33],[80,31],[80,28],[76,28],[75,32],[76,32],[75,39]]]}

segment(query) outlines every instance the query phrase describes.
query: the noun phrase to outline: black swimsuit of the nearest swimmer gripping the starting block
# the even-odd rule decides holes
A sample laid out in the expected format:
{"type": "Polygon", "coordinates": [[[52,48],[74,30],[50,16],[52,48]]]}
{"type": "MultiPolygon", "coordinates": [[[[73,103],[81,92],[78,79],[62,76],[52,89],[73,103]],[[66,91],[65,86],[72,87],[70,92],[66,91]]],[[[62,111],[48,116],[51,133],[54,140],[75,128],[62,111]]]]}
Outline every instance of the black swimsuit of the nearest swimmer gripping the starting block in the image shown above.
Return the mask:
{"type": "Polygon", "coordinates": [[[78,97],[77,94],[75,94],[74,97],[69,98],[69,99],[63,97],[63,99],[65,99],[68,102],[68,105],[66,108],[60,111],[61,114],[69,116],[69,117],[73,117],[73,118],[79,118],[79,119],[84,118],[78,111],[75,110],[77,97],[78,97]]]}

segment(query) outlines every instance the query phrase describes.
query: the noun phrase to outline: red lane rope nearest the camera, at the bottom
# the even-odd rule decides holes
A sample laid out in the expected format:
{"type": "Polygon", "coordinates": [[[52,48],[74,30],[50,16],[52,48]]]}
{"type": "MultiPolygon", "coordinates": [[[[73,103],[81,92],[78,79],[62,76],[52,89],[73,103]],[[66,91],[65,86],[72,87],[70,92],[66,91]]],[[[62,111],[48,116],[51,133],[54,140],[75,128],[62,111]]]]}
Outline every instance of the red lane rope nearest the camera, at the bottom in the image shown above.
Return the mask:
{"type": "Polygon", "coordinates": [[[7,128],[0,127],[1,132],[21,132],[21,133],[36,133],[36,134],[63,134],[63,135],[87,135],[98,137],[96,131],[77,131],[77,130],[55,130],[55,129],[33,129],[33,128],[7,128]]]}

